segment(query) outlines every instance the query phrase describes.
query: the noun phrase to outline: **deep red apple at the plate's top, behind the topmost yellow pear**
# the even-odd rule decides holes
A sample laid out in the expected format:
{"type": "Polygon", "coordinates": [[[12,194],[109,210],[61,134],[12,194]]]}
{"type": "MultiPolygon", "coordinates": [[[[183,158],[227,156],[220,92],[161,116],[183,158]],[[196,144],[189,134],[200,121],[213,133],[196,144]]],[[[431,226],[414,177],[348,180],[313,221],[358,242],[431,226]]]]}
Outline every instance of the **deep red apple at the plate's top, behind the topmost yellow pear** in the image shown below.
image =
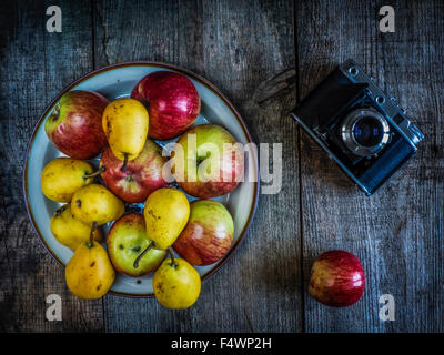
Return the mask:
{"type": "Polygon", "coordinates": [[[170,140],[190,128],[201,110],[194,84],[185,75],[157,71],[138,82],[131,98],[149,106],[149,136],[170,140]]]}

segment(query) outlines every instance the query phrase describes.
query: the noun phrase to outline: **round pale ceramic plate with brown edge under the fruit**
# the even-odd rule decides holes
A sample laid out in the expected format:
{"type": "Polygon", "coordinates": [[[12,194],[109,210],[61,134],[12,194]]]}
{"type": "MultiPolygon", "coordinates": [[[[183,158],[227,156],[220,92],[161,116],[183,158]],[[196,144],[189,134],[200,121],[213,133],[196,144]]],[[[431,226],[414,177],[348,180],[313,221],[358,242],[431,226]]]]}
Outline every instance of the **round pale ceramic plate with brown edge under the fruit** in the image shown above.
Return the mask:
{"type": "MultiPolygon", "coordinates": [[[[242,118],[220,90],[205,79],[188,70],[160,62],[124,62],[95,70],[80,78],[60,92],[46,109],[30,139],[24,165],[23,192],[28,215],[44,247],[61,265],[67,265],[73,252],[60,244],[51,233],[50,219],[60,204],[44,197],[40,187],[40,175],[46,164],[63,154],[49,141],[44,132],[44,121],[51,114],[60,97],[67,91],[97,91],[109,100],[114,100],[117,98],[129,97],[132,88],[140,79],[159,70],[180,72],[190,78],[194,83],[201,97],[202,104],[201,113],[195,124],[206,122],[219,124],[228,129],[242,144],[252,142],[242,118]]],[[[162,142],[158,143],[162,145],[162,142]]],[[[249,164],[245,164],[245,174],[250,178],[241,182],[231,194],[216,199],[228,207],[233,216],[233,244],[230,252],[219,262],[209,266],[196,267],[202,278],[214,273],[232,255],[232,252],[239,245],[253,219],[259,197],[259,166],[256,154],[253,152],[253,154],[249,156],[249,164]],[[249,165],[250,172],[248,172],[249,165]],[[258,179],[252,181],[252,175],[258,179]]],[[[193,199],[190,197],[190,200],[193,199]]],[[[111,224],[112,223],[104,226],[104,232],[108,232],[111,224]]],[[[103,245],[105,246],[105,244],[103,245]]],[[[110,292],[124,296],[152,296],[152,274],[141,277],[129,277],[118,273],[110,292]]]]}

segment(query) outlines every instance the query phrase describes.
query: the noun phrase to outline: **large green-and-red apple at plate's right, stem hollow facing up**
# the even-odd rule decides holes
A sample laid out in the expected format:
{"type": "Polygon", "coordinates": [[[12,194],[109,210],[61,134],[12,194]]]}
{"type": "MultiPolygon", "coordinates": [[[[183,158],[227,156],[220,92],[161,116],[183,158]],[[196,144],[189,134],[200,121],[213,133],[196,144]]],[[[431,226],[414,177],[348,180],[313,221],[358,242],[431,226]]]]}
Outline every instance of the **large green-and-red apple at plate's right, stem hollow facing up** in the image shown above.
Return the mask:
{"type": "Polygon", "coordinates": [[[243,176],[243,149],[225,129],[214,124],[196,125],[176,144],[183,150],[184,159],[173,152],[173,173],[184,192],[210,199],[238,186],[243,176]]]}

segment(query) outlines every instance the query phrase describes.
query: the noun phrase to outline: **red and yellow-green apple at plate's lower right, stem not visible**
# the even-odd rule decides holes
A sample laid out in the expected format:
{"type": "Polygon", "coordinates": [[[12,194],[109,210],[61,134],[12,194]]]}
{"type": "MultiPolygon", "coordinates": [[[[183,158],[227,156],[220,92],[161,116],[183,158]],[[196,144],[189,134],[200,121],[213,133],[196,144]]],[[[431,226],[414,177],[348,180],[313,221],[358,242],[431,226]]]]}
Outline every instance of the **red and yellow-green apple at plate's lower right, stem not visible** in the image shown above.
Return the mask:
{"type": "Polygon", "coordinates": [[[193,201],[190,210],[188,224],[173,247],[191,264],[213,264],[230,250],[233,219],[223,204],[213,200],[193,201]]]}

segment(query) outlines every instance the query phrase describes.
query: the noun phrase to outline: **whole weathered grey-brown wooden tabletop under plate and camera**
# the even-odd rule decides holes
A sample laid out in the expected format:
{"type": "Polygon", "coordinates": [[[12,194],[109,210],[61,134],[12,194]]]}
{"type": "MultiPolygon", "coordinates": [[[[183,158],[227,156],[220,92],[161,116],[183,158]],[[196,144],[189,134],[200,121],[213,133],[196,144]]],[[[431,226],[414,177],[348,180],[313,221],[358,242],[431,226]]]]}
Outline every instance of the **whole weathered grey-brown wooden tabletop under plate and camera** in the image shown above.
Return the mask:
{"type": "Polygon", "coordinates": [[[0,6],[2,332],[444,331],[443,1],[56,2],[0,6]],[[61,33],[46,30],[51,4],[62,9],[61,33]],[[394,33],[379,31],[384,4],[395,9],[394,33]],[[425,133],[414,159],[371,197],[287,115],[347,58],[425,133]],[[256,142],[283,143],[282,191],[260,196],[243,244],[186,311],[153,298],[75,298],[26,212],[26,149],[44,106],[84,73],[128,60],[205,77],[256,142]],[[286,90],[258,99],[269,79],[292,68],[286,90]],[[365,270],[365,294],[347,308],[325,307],[307,293],[313,260],[332,248],[353,252],[365,270]],[[62,322],[46,320],[53,293],[62,297],[62,322]],[[383,294],[394,296],[393,322],[379,317],[383,294]]]}

